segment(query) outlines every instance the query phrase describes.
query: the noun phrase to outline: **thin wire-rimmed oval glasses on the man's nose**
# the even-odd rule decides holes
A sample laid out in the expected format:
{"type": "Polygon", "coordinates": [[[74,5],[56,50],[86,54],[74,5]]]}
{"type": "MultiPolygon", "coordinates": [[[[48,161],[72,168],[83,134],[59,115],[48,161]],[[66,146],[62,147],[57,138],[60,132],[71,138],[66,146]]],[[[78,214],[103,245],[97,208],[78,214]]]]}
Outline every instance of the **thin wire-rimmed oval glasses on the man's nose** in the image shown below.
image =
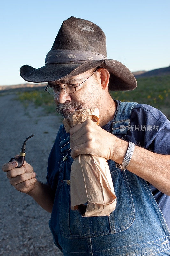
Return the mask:
{"type": "MultiPolygon", "coordinates": [[[[96,72],[97,68],[95,69],[95,71],[92,73],[92,75],[96,72]]],[[[92,75],[90,75],[88,78],[90,78],[92,75]]],[[[85,79],[85,81],[87,80],[85,79]]],[[[85,81],[83,81],[81,84],[83,84],[85,81]]],[[[53,95],[53,96],[56,96],[58,94],[58,92],[60,90],[63,90],[64,92],[68,93],[68,94],[72,94],[76,91],[76,88],[78,86],[80,86],[81,84],[78,84],[77,86],[74,86],[74,85],[70,85],[70,84],[65,84],[63,85],[62,88],[57,88],[56,86],[59,86],[59,85],[54,85],[54,86],[49,86],[47,85],[46,88],[45,88],[45,91],[47,91],[49,94],[53,95]]]]}

